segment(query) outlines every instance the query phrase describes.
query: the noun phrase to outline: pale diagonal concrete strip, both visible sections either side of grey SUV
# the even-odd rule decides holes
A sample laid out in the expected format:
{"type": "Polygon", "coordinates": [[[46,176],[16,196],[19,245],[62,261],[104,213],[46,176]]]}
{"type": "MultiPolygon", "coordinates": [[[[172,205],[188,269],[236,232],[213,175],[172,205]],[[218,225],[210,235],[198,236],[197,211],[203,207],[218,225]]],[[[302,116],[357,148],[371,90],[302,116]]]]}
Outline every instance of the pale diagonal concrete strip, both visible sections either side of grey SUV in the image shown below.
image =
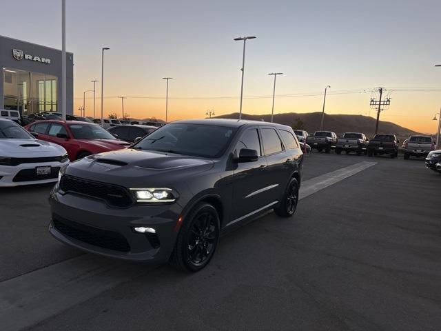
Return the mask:
{"type": "MultiPolygon", "coordinates": [[[[375,164],[360,162],[304,181],[300,199],[375,164]]],[[[8,279],[0,283],[0,330],[30,327],[150,270],[145,265],[84,254],[8,279]]]]}

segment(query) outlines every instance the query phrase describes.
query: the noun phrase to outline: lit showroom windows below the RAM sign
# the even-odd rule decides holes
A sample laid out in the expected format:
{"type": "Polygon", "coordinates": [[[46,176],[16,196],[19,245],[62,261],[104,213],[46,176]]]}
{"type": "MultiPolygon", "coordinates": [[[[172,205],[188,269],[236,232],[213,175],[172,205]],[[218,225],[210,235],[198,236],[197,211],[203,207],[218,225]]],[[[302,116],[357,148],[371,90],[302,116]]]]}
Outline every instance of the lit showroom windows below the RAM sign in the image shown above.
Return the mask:
{"type": "Polygon", "coordinates": [[[6,109],[32,112],[56,112],[57,77],[39,72],[3,68],[3,101],[6,109]]]}

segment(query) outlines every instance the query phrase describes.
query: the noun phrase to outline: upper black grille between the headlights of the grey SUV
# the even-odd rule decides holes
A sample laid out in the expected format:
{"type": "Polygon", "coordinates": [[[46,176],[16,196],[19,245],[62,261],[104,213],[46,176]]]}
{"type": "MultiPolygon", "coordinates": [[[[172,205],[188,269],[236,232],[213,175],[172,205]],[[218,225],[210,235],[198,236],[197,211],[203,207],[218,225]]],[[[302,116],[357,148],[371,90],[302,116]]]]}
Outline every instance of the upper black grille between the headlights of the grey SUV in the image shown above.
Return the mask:
{"type": "Polygon", "coordinates": [[[60,188],[64,192],[74,192],[103,199],[109,205],[119,208],[127,208],[133,203],[130,193],[125,188],[117,185],[64,175],[61,177],[60,188]]]}

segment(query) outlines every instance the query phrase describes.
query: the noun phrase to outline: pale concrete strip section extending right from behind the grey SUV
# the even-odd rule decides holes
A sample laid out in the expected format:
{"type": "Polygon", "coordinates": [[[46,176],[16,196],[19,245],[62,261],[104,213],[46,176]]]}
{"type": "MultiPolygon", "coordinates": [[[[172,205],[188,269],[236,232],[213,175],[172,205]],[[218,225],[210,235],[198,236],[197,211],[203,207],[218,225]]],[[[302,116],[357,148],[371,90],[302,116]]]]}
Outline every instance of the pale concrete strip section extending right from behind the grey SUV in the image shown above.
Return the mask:
{"type": "Polygon", "coordinates": [[[312,179],[308,179],[307,181],[304,181],[300,186],[299,200],[309,197],[309,195],[311,194],[323,190],[328,186],[334,185],[335,183],[351,177],[354,174],[358,174],[358,172],[370,168],[372,165],[376,164],[376,162],[363,161],[360,163],[349,165],[345,168],[338,169],[333,172],[329,172],[327,174],[322,174],[321,176],[314,177],[312,179]]]}

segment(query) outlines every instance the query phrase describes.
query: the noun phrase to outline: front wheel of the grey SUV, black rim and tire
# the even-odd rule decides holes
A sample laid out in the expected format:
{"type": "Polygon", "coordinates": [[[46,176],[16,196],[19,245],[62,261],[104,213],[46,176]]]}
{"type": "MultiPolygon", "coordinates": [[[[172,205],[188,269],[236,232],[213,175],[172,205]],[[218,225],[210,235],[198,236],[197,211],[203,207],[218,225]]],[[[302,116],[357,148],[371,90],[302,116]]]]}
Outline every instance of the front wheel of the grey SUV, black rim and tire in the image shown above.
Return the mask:
{"type": "Polygon", "coordinates": [[[202,270],[214,255],[219,232],[220,221],[216,208],[209,203],[198,203],[181,225],[170,263],[189,272],[202,270]]]}

